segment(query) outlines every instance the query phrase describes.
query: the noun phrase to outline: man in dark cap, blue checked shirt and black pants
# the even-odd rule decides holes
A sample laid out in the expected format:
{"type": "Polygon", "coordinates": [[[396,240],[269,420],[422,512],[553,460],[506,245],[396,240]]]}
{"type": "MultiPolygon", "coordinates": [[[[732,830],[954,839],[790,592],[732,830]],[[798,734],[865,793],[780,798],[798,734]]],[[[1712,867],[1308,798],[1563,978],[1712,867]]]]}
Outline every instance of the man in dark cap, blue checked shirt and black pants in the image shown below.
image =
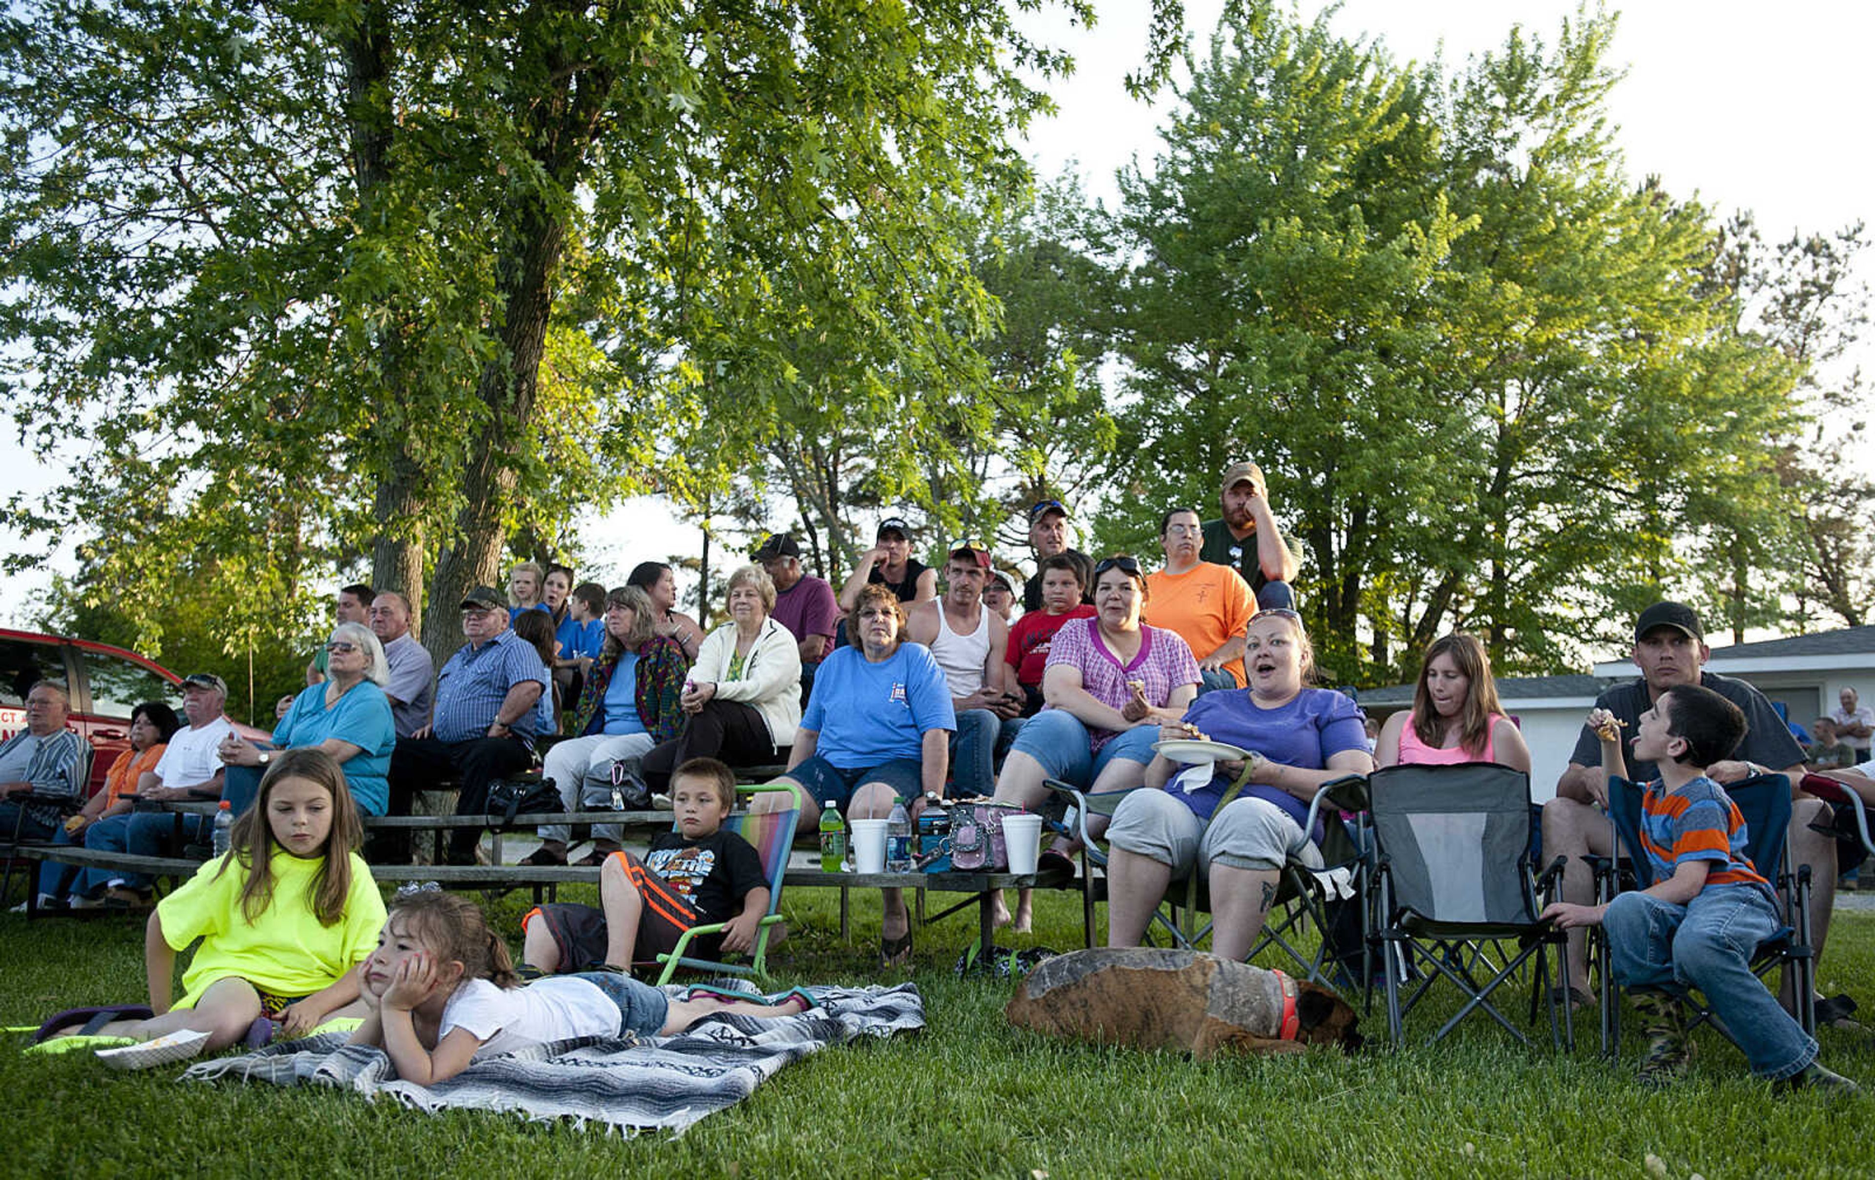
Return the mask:
{"type": "MultiPolygon", "coordinates": [[[[534,737],[551,732],[548,666],[527,640],[508,630],[508,597],[478,585],[461,602],[469,640],[437,673],[431,724],[398,739],[390,756],[394,810],[409,810],[414,792],[456,779],[456,814],[488,810],[488,786],[534,762],[534,737]]],[[[482,833],[450,831],[448,863],[472,865],[482,833]]]]}

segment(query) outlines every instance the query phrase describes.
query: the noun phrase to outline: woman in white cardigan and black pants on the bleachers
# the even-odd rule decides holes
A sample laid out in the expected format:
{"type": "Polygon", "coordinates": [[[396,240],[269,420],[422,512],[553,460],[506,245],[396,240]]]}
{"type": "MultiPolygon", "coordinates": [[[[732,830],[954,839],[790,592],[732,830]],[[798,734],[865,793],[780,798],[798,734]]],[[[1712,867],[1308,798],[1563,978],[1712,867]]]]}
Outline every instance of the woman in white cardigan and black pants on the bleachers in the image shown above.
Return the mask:
{"type": "Polygon", "coordinates": [[[669,788],[671,771],[692,758],[729,765],[788,760],[801,724],[801,647],[769,617],[774,582],[761,567],[729,574],[729,623],[703,636],[681,705],[684,732],[643,760],[645,784],[669,788]]]}

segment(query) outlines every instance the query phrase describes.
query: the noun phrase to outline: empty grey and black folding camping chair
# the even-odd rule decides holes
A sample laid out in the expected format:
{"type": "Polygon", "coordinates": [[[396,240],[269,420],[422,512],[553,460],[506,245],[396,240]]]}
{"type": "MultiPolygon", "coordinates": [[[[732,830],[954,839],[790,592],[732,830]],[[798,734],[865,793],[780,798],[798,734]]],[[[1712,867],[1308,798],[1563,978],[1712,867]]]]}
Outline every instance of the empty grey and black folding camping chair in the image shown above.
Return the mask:
{"type": "Polygon", "coordinates": [[[1491,1004],[1491,992],[1534,962],[1530,1022],[1536,1022],[1538,1002],[1547,1000],[1551,1041],[1573,1049],[1568,1004],[1558,1004],[1549,987],[1547,947],[1560,953],[1566,936],[1538,919],[1560,887],[1562,857],[1536,876],[1530,775],[1492,762],[1389,765],[1374,771],[1369,807],[1374,923],[1393,1041],[1404,1039],[1404,1017],[1431,987],[1448,979],[1466,1000],[1432,1041],[1481,1011],[1530,1045],[1491,1004]],[[1481,953],[1483,944],[1500,940],[1515,940],[1515,951],[1506,953],[1502,964],[1481,953]],[[1418,989],[1402,1002],[1402,987],[1414,974],[1418,989]]]}

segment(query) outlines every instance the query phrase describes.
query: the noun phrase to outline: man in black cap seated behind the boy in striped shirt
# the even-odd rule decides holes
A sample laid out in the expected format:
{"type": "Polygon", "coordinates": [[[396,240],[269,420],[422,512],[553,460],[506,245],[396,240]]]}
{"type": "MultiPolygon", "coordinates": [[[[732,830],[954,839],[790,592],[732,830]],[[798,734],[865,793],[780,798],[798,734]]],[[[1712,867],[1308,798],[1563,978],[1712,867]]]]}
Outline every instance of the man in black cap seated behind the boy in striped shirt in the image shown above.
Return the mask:
{"type": "MultiPolygon", "coordinates": [[[[1622,752],[1628,760],[1628,779],[1631,782],[1659,779],[1652,762],[1633,754],[1641,715],[1676,685],[1704,685],[1738,705],[1748,724],[1746,737],[1738,743],[1734,756],[1714,762],[1706,767],[1706,775],[1716,782],[1738,782],[1753,775],[1778,773],[1789,775],[1794,788],[1804,777],[1804,750],[1791,737],[1791,728],[1783,724],[1764,694],[1746,681],[1702,672],[1710,655],[1706,628],[1701,627],[1699,615],[1689,606],[1656,602],[1635,619],[1633,662],[1641,675],[1612,685],[1596,698],[1598,709],[1607,709],[1626,726],[1622,752]]],[[[1601,775],[1601,739],[1584,724],[1575,739],[1569,769],[1556,782],[1556,797],[1543,805],[1543,859],[1568,857],[1562,874],[1564,900],[1577,904],[1594,900],[1594,882],[1581,857],[1612,852],[1605,805],[1607,780],[1601,775]]],[[[1822,953],[1822,938],[1828,932],[1830,906],[1836,895],[1836,844],[1832,839],[1809,831],[1809,824],[1819,816],[1828,818],[1828,809],[1817,799],[1800,799],[1791,814],[1792,855],[1796,863],[1811,867],[1811,940],[1817,955],[1822,953]],[[1819,899],[1821,914],[1817,912],[1819,899]]],[[[1575,1002],[1588,996],[1584,946],[1581,932],[1569,930],[1568,983],[1571,992],[1581,992],[1571,996],[1575,1002]]],[[[1785,996],[1785,1004],[1789,1004],[1789,996],[1785,996]]]]}

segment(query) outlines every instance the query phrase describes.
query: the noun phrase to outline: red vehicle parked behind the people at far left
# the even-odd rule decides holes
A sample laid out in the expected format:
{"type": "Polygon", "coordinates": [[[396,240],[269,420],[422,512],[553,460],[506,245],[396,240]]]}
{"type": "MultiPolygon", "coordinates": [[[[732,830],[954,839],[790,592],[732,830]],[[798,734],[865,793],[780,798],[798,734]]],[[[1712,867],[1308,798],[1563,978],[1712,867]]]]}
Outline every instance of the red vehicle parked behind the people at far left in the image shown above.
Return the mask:
{"type": "MultiPolygon", "coordinates": [[[[90,739],[92,792],[129,749],[129,713],[146,700],[167,702],[182,715],[182,677],[135,651],[90,640],[0,628],[0,741],[26,726],[26,692],[39,681],[71,690],[71,728],[90,739]]],[[[244,737],[266,737],[236,724],[244,737]]]]}

